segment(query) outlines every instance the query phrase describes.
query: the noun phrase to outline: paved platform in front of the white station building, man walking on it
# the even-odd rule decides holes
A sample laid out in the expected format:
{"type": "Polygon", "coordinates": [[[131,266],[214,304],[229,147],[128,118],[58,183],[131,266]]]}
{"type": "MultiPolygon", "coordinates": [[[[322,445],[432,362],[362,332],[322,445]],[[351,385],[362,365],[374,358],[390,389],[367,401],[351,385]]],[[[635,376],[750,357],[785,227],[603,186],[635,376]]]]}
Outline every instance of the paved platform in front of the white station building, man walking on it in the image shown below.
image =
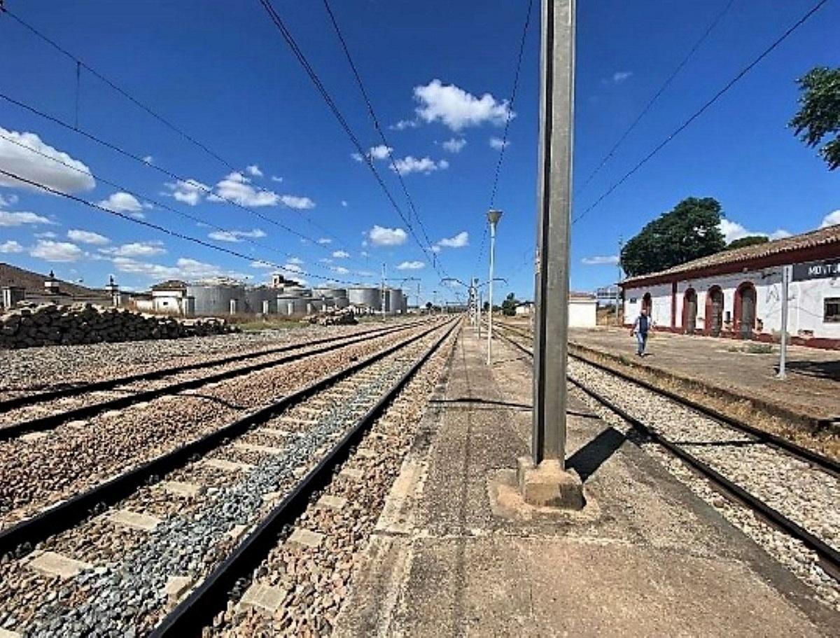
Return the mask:
{"type": "Polygon", "coordinates": [[[569,340],[612,356],[624,356],[631,365],[670,372],[811,419],[840,420],[840,351],[791,345],[788,378],[780,381],[776,378],[778,345],[772,345],[769,353],[758,354],[749,352],[749,346],[766,349],[770,345],[654,332],[648,340],[649,356],[639,358],[635,356],[636,340],[625,328],[573,329],[569,340]]]}

